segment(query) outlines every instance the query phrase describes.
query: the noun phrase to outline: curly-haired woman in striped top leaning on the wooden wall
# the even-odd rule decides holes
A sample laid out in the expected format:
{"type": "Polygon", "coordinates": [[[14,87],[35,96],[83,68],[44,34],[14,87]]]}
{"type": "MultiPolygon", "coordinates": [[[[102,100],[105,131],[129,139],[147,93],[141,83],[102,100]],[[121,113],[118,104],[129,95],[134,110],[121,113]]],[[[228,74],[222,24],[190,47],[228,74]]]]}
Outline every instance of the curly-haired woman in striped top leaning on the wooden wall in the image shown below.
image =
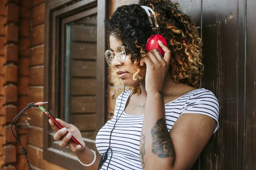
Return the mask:
{"type": "Polygon", "coordinates": [[[190,17],[170,0],[141,0],[140,5],[121,6],[105,20],[111,47],[105,57],[130,88],[117,97],[113,119],[96,136],[103,156],[85,146],[74,125],[58,119],[65,127],[59,129],[49,120],[54,139],[70,147],[87,170],[98,165],[102,170],[187,170],[218,129],[218,100],[198,89],[201,39],[190,17]],[[140,5],[154,10],[156,23],[140,5]],[[148,38],[157,32],[168,43],[157,42],[163,56],[157,48],[146,51],[148,38]],[[83,147],[70,141],[71,134],[83,147]]]}

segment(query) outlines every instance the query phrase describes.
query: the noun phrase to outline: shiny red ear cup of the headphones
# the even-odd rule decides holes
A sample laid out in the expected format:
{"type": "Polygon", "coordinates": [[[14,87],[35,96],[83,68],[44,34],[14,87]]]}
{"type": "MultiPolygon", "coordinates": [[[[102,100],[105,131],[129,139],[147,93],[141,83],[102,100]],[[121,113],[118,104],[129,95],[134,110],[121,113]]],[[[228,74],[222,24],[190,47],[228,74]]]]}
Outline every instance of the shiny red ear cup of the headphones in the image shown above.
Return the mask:
{"type": "Polygon", "coordinates": [[[146,43],[146,50],[150,51],[150,50],[153,50],[154,48],[157,48],[159,50],[159,52],[162,54],[162,56],[163,56],[164,55],[164,51],[158,45],[158,40],[163,42],[164,45],[168,46],[166,39],[162,35],[154,34],[154,35],[152,35],[151,37],[148,38],[148,41],[146,43]]]}

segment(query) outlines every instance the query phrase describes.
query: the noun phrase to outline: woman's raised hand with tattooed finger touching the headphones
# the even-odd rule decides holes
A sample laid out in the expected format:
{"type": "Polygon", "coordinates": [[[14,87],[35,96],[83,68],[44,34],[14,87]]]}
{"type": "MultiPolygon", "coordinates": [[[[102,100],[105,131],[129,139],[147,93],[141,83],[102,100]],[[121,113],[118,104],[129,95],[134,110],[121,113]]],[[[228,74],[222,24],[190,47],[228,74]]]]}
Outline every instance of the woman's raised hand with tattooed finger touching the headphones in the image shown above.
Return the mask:
{"type": "Polygon", "coordinates": [[[140,60],[140,66],[144,64],[147,66],[145,76],[145,90],[147,93],[163,91],[164,80],[169,69],[171,51],[162,42],[158,41],[158,44],[163,49],[164,56],[157,48],[154,48],[148,51],[146,57],[140,60]]]}

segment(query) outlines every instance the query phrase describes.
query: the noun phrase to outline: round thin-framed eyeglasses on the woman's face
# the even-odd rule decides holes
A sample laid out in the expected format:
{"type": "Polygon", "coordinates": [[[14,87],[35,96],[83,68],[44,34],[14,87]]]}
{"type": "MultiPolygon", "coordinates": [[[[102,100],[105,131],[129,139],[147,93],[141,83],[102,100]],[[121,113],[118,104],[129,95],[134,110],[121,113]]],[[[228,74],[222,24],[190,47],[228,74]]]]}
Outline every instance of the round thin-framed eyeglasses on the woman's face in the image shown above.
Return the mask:
{"type": "Polygon", "coordinates": [[[119,62],[125,62],[125,48],[122,45],[118,45],[114,52],[110,50],[105,51],[105,58],[108,62],[108,65],[112,65],[112,62],[115,57],[119,62]]]}

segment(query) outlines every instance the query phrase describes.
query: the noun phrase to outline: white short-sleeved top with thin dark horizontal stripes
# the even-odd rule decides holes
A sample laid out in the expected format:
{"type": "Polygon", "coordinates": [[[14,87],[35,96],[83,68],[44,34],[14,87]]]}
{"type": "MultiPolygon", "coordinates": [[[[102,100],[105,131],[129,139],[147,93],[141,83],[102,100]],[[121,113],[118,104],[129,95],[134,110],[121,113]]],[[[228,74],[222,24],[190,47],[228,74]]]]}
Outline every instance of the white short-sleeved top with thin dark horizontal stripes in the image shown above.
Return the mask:
{"type": "MultiPolygon", "coordinates": [[[[109,146],[110,132],[116,122],[119,111],[122,113],[125,103],[131,91],[126,90],[116,99],[116,107],[113,119],[109,120],[99,130],[96,136],[96,147],[100,154],[103,154],[109,146]]],[[[219,105],[214,94],[204,88],[190,91],[189,93],[169,102],[165,105],[166,124],[170,131],[176,120],[183,113],[198,113],[212,117],[218,122],[219,105]]],[[[123,112],[116,122],[116,127],[111,135],[111,148],[113,156],[111,158],[109,170],[142,170],[140,163],[140,134],[143,125],[144,114],[128,115],[123,112]]],[[[218,129],[218,123],[215,131],[218,129]]],[[[106,170],[111,151],[108,151],[108,159],[101,170],[106,170]]]]}

